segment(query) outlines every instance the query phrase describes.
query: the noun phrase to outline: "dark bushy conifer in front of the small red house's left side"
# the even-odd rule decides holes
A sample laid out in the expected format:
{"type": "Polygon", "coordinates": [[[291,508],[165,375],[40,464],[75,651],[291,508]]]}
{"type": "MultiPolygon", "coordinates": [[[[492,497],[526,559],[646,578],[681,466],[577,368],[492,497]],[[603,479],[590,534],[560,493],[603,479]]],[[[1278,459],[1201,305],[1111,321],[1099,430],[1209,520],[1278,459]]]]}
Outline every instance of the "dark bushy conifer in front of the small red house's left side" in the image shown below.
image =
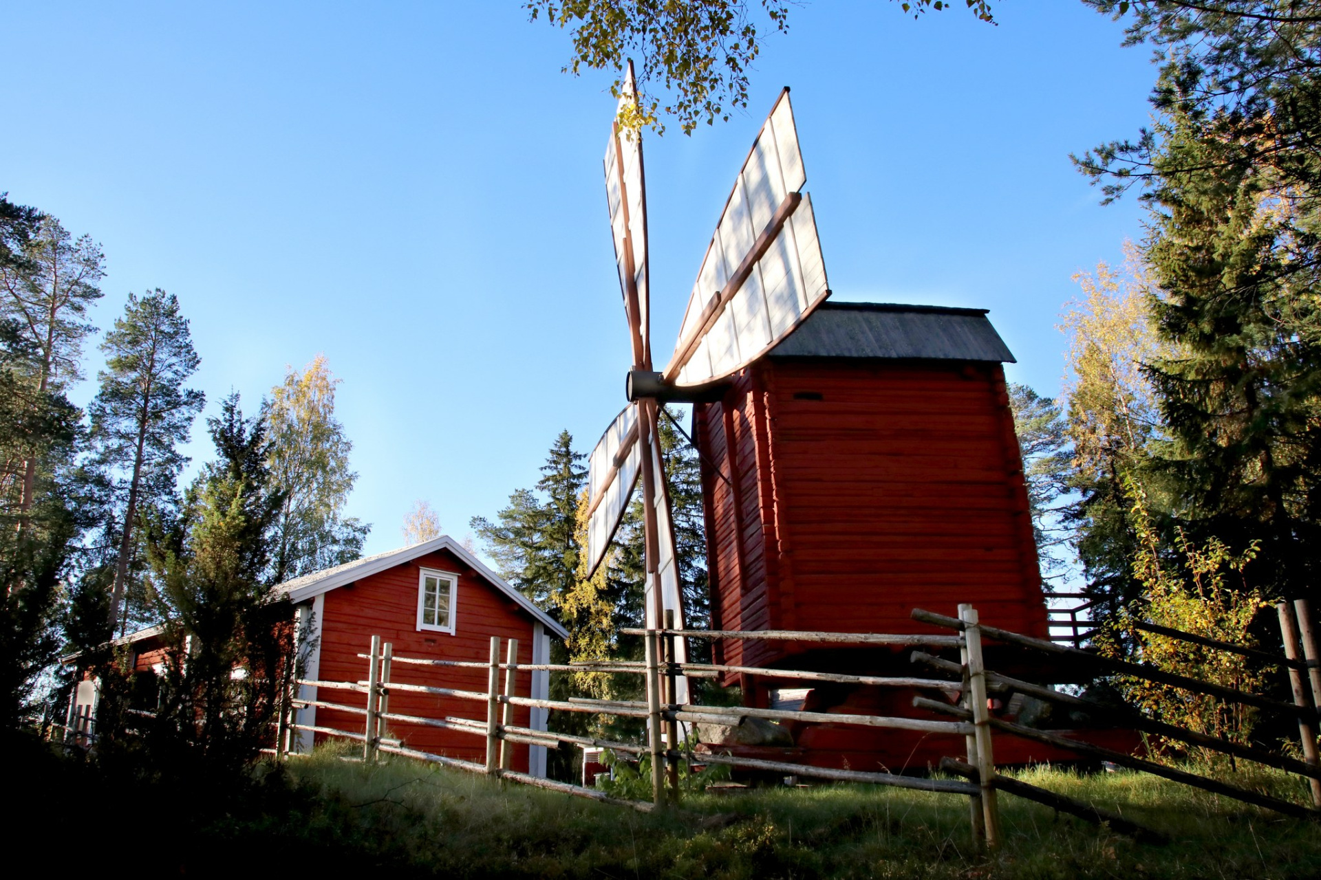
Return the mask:
{"type": "Polygon", "coordinates": [[[267,468],[266,422],[236,394],[209,420],[218,459],[182,517],[148,541],[169,652],[145,745],[162,772],[236,774],[268,744],[293,656],[292,608],[266,579],[283,492],[267,468]]]}

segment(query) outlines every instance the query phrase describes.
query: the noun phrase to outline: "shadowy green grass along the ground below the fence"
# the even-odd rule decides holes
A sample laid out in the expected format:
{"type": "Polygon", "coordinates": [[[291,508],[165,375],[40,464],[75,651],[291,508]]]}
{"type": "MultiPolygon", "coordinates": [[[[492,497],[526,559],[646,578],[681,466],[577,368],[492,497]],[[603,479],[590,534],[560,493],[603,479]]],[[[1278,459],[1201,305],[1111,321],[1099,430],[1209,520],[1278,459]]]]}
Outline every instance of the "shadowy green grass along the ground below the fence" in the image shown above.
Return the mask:
{"type": "MultiPolygon", "coordinates": [[[[1170,835],[1143,846],[1001,794],[1004,846],[971,846],[968,805],[869,786],[696,794],[655,815],[503,785],[404,759],[333,749],[289,764],[296,797],[205,836],[266,842],[300,859],[454,877],[1316,877],[1321,829],[1137,773],[1040,768],[1020,778],[1170,835]]],[[[1300,800],[1284,774],[1239,784],[1300,800]]],[[[303,864],[303,862],[300,862],[303,864]]]]}

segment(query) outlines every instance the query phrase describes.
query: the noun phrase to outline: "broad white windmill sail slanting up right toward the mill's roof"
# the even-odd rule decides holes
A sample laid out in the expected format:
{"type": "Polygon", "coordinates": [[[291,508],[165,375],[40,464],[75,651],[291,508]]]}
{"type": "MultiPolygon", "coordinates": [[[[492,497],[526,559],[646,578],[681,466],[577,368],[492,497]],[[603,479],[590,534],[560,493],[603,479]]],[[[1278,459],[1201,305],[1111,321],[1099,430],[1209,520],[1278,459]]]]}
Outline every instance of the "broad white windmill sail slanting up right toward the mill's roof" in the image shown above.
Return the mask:
{"type": "Polygon", "coordinates": [[[703,385],[774,347],[830,296],[789,91],[734,181],[664,376],[703,385]]]}

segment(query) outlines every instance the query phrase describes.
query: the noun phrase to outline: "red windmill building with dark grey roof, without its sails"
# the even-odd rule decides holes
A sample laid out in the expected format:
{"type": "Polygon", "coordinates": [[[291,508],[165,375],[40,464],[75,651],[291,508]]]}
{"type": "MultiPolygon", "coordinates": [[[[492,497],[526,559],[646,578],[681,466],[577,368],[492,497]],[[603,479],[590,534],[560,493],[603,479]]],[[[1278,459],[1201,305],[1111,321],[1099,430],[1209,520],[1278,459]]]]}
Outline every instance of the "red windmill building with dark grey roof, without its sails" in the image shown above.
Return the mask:
{"type": "MultiPolygon", "coordinates": [[[[826,302],[717,400],[696,404],[712,628],[934,633],[911,620],[914,607],[952,615],[970,602],[988,624],[1046,637],[1001,367],[1012,360],[982,309],[826,302]]],[[[729,665],[921,672],[908,654],[716,646],[716,662],[729,665]]],[[[865,711],[911,699],[857,687],[803,693],[749,676],[725,683],[756,706],[791,695],[818,711],[865,711]]],[[[886,714],[913,715],[893,708],[886,714]]],[[[798,744],[808,760],[853,755],[861,769],[913,756],[913,739],[804,730],[798,744]]]]}

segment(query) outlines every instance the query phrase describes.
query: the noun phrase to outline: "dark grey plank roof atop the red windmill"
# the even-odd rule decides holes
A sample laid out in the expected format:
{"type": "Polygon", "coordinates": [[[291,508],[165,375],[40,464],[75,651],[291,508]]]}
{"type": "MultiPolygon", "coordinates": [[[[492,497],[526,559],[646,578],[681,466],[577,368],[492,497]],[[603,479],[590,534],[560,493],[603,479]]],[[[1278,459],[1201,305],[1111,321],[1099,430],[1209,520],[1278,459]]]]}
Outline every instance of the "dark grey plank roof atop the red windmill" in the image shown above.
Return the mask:
{"type": "Polygon", "coordinates": [[[985,309],[890,302],[823,302],[769,355],[1016,363],[985,309]]]}

